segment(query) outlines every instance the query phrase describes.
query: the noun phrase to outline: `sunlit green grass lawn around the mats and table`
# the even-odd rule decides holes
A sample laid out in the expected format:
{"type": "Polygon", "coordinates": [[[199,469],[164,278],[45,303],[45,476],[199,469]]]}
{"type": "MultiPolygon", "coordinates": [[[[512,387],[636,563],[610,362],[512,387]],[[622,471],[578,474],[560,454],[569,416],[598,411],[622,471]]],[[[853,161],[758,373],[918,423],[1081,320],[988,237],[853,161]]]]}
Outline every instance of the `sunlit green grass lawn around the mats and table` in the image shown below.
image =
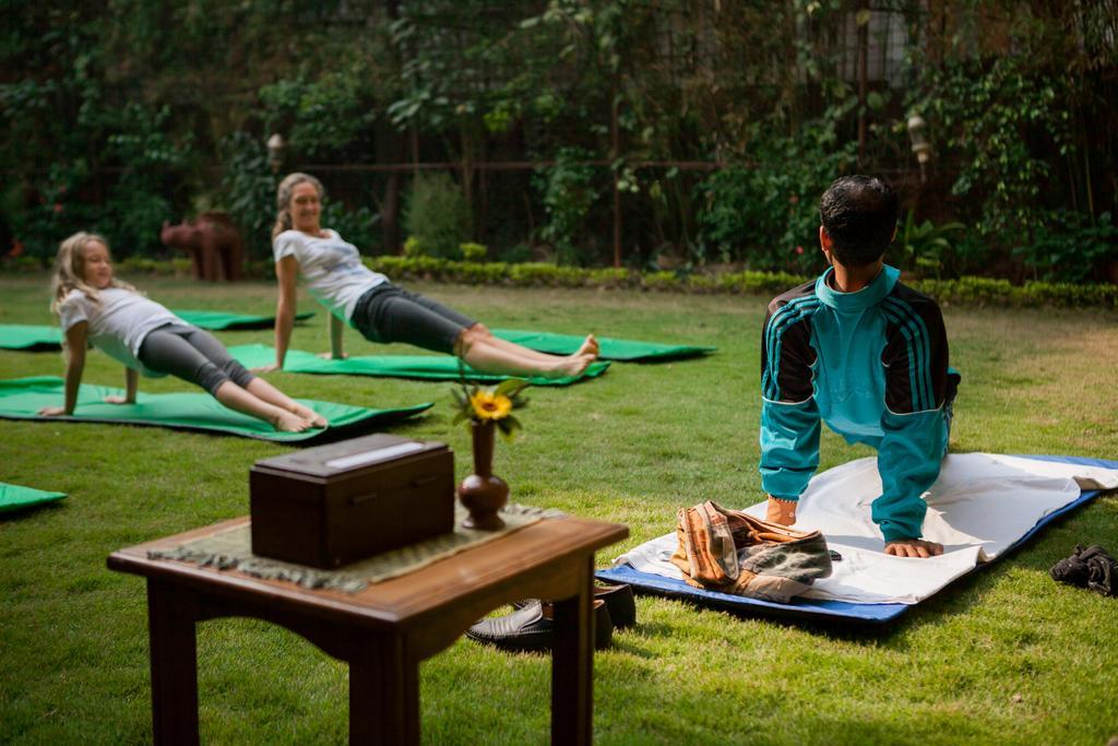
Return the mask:
{"type": "MultiPolygon", "coordinates": [[[[0,277],[0,323],[54,323],[46,275],[0,277]]],[[[271,313],[263,283],[143,280],[171,308],[271,313]]],[[[701,499],[745,507],[757,474],[765,299],[418,285],[494,327],[716,344],[702,360],[614,363],[600,379],[533,389],[523,436],[499,443],[513,499],[629,526],[622,550],[673,527],[701,499]]],[[[303,296],[301,309],[311,309],[303,296]]],[[[945,310],[964,374],[953,448],[1118,460],[1118,315],[945,310]]],[[[325,317],[292,346],[325,349],[325,317]]],[[[271,332],[219,332],[227,344],[271,332]]],[[[405,352],[352,332],[354,353],[405,352]]],[[[58,353],[0,351],[0,378],[63,375],[58,353]]],[[[86,383],[122,386],[96,352],[86,383]]],[[[394,432],[445,441],[449,385],[275,374],[287,393],[362,406],[435,400],[394,432]]],[[[141,390],[184,390],[173,379],[141,390]]],[[[60,403],[59,403],[60,404],[60,403]]],[[[110,573],[114,549],[248,511],[248,468],[287,446],[106,425],[0,421],[0,481],[69,498],[0,518],[0,743],[151,738],[146,601],[110,573]]],[[[822,468],[866,455],[824,435],[822,468]]],[[[637,599],[637,626],[595,658],[603,744],[1105,744],[1118,734],[1118,599],[1061,586],[1048,568],[1077,544],[1118,554],[1118,500],[1103,497],[1027,547],[911,610],[885,631],[793,625],[637,599]]],[[[247,620],[198,630],[207,743],[340,743],[345,668],[301,638],[247,620]]],[[[544,743],[547,657],[465,639],[425,662],[427,743],[544,743]]]]}

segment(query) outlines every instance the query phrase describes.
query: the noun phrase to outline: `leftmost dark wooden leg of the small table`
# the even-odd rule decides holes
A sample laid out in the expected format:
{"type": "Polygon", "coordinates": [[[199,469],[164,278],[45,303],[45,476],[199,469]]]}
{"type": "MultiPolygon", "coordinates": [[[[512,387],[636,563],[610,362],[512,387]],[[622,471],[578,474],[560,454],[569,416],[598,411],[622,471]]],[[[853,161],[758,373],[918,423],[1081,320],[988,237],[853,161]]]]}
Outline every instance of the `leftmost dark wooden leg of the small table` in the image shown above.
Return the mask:
{"type": "Polygon", "coordinates": [[[196,612],[190,591],[148,578],[151,716],[157,744],[198,744],[196,612]]]}

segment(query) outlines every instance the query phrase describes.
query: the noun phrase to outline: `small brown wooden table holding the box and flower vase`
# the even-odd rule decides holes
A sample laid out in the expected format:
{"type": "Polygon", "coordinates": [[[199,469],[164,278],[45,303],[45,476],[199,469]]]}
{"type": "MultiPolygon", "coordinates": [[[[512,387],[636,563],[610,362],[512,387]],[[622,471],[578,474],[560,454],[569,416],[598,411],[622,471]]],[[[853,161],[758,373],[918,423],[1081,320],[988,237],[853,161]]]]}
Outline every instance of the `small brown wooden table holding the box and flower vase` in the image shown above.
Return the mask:
{"type": "Polygon", "coordinates": [[[419,662],[518,598],[556,599],[551,742],[589,744],[594,553],[628,536],[618,523],[549,519],[357,594],[215,570],[148,550],[248,521],[237,518],[114,551],[110,569],[148,578],[152,721],[157,744],[198,743],[195,623],[266,620],[350,665],[351,743],[419,743],[419,662]]]}

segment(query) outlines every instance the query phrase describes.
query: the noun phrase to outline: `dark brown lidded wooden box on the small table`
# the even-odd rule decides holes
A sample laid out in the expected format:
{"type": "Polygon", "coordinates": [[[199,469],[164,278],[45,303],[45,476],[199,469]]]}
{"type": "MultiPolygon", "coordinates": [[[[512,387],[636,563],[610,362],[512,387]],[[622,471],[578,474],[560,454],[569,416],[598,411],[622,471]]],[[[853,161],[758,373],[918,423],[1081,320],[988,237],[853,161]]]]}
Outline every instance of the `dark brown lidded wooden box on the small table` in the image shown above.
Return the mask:
{"type": "Polygon", "coordinates": [[[253,554],[332,568],[454,530],[454,453],[367,435],[249,470],[253,554]]]}

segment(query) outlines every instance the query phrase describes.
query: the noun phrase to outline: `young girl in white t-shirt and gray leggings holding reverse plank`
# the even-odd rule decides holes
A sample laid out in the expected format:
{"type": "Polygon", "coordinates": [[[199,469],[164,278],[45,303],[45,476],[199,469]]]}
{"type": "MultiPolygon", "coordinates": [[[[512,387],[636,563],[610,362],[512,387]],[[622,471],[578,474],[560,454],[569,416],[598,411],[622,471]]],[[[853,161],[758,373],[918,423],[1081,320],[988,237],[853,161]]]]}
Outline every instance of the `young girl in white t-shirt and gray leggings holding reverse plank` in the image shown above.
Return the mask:
{"type": "Polygon", "coordinates": [[[74,414],[86,347],[93,344],[124,363],[125,395],[106,397],[110,404],[135,403],[139,374],[170,374],[278,431],[325,427],[322,415],[245,370],[212,334],[114,277],[108,244],[101,236],[76,233],[64,240],[51,285],[50,308],[66,337],[66,400],[61,407],[44,407],[40,415],[74,414]]]}

